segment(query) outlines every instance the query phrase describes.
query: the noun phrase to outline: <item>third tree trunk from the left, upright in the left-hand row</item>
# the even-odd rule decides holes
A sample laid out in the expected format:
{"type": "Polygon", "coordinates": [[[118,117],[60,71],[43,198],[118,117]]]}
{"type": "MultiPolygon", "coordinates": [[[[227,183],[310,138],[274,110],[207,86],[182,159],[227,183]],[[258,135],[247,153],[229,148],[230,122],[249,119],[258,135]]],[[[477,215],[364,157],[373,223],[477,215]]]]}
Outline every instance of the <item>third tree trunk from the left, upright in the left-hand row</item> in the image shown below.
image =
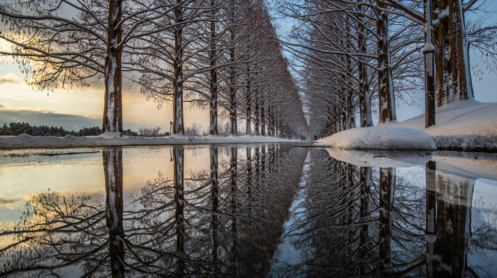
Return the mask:
{"type": "MultiPolygon", "coordinates": [[[[215,0],[211,0],[212,8],[216,5],[215,0]]],[[[211,21],[211,51],[210,51],[210,91],[211,91],[211,99],[209,103],[209,134],[210,135],[218,135],[218,110],[217,110],[217,69],[216,66],[216,56],[217,56],[217,35],[216,35],[216,10],[213,8],[212,11],[212,21],[211,21]]]]}

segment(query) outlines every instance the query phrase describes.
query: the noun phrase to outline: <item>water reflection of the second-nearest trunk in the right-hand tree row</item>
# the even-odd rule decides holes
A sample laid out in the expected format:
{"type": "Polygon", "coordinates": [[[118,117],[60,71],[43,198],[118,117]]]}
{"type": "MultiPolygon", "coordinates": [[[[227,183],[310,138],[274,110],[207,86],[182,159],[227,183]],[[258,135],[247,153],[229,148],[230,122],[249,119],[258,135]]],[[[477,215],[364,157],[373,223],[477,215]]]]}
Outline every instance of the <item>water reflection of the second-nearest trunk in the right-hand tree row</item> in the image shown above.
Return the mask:
{"type": "Polygon", "coordinates": [[[396,168],[380,168],[380,273],[390,267],[395,171],[396,168]]]}

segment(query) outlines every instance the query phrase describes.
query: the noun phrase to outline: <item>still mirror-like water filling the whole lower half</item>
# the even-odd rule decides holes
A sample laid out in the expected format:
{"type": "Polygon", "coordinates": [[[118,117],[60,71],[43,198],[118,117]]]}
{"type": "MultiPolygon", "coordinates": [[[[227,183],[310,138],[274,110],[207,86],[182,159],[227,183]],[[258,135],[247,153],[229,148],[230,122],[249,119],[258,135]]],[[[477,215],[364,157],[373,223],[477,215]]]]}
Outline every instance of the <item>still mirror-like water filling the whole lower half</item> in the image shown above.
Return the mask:
{"type": "Polygon", "coordinates": [[[497,276],[495,154],[0,155],[0,277],[497,276]]]}

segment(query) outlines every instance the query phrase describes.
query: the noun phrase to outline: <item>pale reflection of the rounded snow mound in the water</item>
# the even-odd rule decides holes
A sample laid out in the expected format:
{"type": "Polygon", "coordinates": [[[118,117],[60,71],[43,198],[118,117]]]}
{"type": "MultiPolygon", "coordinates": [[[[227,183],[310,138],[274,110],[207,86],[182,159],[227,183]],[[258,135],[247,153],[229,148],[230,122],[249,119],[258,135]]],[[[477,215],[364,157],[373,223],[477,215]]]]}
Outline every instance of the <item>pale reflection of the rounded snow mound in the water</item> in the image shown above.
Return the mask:
{"type": "Polygon", "coordinates": [[[431,160],[431,152],[414,151],[378,151],[378,150],[343,150],[326,148],[335,160],[360,167],[414,167],[424,165],[431,160]]]}

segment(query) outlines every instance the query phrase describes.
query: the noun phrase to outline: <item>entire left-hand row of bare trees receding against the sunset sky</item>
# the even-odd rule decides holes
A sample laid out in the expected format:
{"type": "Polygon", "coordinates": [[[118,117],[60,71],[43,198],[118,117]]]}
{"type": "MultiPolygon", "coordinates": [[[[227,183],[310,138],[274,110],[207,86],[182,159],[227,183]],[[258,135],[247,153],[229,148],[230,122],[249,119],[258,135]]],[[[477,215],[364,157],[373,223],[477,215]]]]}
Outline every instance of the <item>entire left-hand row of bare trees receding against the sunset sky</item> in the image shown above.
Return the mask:
{"type": "Polygon", "coordinates": [[[140,88],[172,104],[173,133],[184,133],[183,104],[246,119],[246,134],[308,132],[298,89],[274,39],[264,1],[12,0],[0,4],[0,38],[39,89],[105,88],[102,133],[122,132],[122,90],[140,88]],[[242,117],[243,115],[243,117],[242,117]]]}

